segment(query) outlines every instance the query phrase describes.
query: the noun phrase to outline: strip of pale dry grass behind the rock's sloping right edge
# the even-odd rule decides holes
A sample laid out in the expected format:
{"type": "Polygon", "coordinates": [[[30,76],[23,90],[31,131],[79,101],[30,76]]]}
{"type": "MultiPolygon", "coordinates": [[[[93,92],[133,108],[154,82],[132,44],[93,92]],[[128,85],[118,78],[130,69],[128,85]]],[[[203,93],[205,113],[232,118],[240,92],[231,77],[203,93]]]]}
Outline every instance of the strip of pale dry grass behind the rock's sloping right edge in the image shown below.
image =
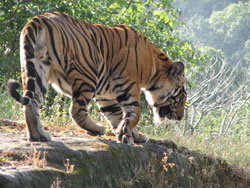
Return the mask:
{"type": "Polygon", "coordinates": [[[152,130],[154,133],[151,135],[149,135],[150,131],[146,131],[152,138],[168,139],[178,146],[184,146],[189,150],[205,153],[211,157],[222,158],[231,166],[246,169],[246,171],[250,170],[250,139],[247,136],[250,129],[227,136],[215,136],[209,132],[195,132],[192,135],[183,136],[182,130],[177,125],[152,127],[152,130]],[[157,131],[158,129],[159,131],[157,131]]]}

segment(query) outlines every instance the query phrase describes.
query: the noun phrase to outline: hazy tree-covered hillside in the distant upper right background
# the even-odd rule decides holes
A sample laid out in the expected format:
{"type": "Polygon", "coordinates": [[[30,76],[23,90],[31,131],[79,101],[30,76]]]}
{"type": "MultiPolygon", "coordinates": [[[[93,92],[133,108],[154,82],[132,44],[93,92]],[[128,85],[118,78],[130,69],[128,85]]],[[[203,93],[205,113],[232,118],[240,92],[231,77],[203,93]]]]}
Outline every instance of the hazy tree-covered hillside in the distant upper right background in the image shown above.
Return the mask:
{"type": "Polygon", "coordinates": [[[182,10],[185,22],[185,27],[180,28],[181,36],[198,46],[221,49],[231,64],[241,60],[243,66],[249,66],[250,61],[244,58],[249,52],[246,48],[250,38],[249,1],[191,0],[181,3],[177,0],[176,6],[182,10]]]}

